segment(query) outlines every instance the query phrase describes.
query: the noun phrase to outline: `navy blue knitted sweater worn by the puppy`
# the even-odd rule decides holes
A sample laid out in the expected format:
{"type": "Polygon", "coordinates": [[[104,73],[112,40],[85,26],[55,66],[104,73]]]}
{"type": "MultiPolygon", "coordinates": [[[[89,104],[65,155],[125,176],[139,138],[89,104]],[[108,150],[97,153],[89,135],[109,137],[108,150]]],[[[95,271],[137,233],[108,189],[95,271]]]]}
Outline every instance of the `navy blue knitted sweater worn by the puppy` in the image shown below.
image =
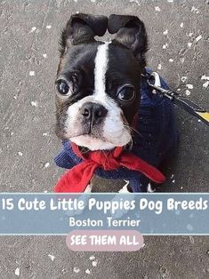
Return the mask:
{"type": "MultiPolygon", "coordinates": [[[[160,81],[161,87],[168,89],[162,78],[160,81]]],[[[179,139],[174,124],[173,103],[159,94],[153,94],[143,79],[138,121],[134,129],[138,132],[133,133],[131,153],[156,167],[172,157],[179,139]]],[[[82,162],[82,159],[74,154],[69,140],[64,140],[62,145],[62,151],[54,158],[58,166],[71,169],[82,162]]],[[[99,168],[95,174],[105,179],[129,180],[133,192],[147,192],[149,179],[138,171],[130,171],[125,167],[120,167],[117,171],[104,171],[99,168]]]]}

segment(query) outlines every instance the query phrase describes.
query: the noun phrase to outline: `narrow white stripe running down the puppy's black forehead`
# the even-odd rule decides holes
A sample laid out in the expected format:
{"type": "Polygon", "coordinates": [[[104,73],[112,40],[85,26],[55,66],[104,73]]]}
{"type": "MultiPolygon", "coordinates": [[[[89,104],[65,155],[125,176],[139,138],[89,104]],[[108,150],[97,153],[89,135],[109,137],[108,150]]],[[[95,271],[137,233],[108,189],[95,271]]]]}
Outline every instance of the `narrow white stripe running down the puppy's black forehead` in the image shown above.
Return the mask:
{"type": "Polygon", "coordinates": [[[109,63],[109,43],[100,44],[97,49],[95,57],[94,68],[94,96],[99,100],[104,98],[105,93],[105,75],[108,69],[109,63]]]}

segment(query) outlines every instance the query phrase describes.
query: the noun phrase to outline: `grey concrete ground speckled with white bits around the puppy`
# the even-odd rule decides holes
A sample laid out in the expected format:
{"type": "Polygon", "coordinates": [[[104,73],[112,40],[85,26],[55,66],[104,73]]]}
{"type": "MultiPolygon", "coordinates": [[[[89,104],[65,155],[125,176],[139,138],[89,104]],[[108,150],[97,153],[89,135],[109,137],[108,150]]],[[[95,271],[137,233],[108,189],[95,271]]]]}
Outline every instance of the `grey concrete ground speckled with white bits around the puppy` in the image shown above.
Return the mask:
{"type": "MultiPolygon", "coordinates": [[[[138,15],[148,29],[149,67],[209,108],[201,79],[209,76],[208,1],[0,0],[1,192],[52,191],[62,172],[52,162],[60,148],[53,83],[60,30],[77,11],[138,15]]],[[[181,109],[177,119],[181,147],[161,190],[206,192],[208,129],[181,109]]],[[[101,181],[101,190],[108,185],[101,181]]],[[[208,237],[153,236],[145,243],[137,252],[91,253],[69,251],[65,237],[1,236],[0,278],[209,278],[208,237]]]]}

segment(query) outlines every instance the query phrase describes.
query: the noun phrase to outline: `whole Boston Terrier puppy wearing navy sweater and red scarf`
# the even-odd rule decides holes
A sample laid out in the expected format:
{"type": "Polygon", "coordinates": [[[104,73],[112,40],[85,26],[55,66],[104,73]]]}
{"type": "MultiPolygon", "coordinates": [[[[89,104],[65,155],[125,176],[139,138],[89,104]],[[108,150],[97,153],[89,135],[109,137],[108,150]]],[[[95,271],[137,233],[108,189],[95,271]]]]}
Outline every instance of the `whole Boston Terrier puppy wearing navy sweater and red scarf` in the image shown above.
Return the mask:
{"type": "MultiPolygon", "coordinates": [[[[68,20],[56,79],[56,133],[63,149],[55,163],[69,171],[55,192],[91,191],[94,173],[128,180],[133,192],[165,181],[157,167],[173,155],[178,133],[172,102],[153,94],[141,77],[151,73],[147,41],[135,16],[78,13],[68,20]],[[115,34],[111,42],[95,39],[107,30],[115,34]]],[[[168,88],[162,78],[159,83],[168,88]]]]}

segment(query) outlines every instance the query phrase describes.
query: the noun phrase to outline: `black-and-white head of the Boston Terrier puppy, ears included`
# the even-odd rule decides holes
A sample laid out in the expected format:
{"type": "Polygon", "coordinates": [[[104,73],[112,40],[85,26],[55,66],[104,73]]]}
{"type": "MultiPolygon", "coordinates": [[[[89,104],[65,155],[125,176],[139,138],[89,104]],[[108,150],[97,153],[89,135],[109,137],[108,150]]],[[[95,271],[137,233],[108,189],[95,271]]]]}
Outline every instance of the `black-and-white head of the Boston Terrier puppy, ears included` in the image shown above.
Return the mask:
{"type": "Polygon", "coordinates": [[[57,135],[90,150],[125,146],[140,102],[147,36],[136,17],[76,14],[61,37],[57,135]],[[94,36],[117,33],[111,43],[94,36]]]}

